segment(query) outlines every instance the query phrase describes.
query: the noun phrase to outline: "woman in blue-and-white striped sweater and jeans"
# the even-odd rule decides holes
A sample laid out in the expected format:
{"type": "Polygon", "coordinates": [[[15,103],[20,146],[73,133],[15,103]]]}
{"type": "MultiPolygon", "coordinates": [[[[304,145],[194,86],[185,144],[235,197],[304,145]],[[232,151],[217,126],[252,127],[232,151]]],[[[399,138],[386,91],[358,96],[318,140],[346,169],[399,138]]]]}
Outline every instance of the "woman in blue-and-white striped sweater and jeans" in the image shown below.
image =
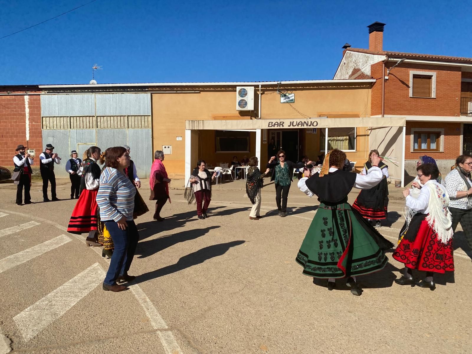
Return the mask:
{"type": "Polygon", "coordinates": [[[110,260],[103,290],[123,291],[126,287],[117,285],[117,281],[132,281],[128,275],[138,244],[138,230],[133,221],[136,188],[125,174],[129,166],[129,154],[124,147],[107,150],[106,168],[100,176],[100,188],[97,204],[100,207],[100,219],[110,232],[115,250],[110,260]]]}

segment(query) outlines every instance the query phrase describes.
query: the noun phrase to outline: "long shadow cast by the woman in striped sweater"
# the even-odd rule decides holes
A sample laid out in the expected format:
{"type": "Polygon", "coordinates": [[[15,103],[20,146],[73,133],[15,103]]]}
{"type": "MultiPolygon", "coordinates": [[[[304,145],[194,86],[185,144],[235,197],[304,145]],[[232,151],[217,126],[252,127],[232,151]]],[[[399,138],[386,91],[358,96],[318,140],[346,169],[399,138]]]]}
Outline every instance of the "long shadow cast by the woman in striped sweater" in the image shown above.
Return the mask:
{"type": "Polygon", "coordinates": [[[147,280],[152,280],[155,278],[162,277],[164,275],[169,275],[179,270],[184,270],[190,268],[194,265],[203,263],[206,260],[209,260],[213,257],[218,257],[225,254],[231,247],[237,246],[239,244],[244,244],[244,240],[231,241],[224,244],[213,244],[208,247],[204,247],[196,252],[189,253],[186,256],[180,258],[176,264],[169,265],[167,267],[153,270],[151,272],[144,273],[137,277],[133,283],[143,283],[147,280]]]}

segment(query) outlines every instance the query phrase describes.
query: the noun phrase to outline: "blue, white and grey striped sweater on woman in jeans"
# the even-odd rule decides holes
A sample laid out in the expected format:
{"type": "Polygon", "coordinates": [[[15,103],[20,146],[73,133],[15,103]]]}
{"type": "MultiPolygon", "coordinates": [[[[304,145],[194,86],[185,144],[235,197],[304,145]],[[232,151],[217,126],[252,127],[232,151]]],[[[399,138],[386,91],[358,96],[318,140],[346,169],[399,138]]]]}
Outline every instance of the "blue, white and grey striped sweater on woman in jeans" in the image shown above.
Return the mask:
{"type": "Polygon", "coordinates": [[[126,221],[133,220],[135,194],[136,188],[127,176],[118,169],[105,168],[100,176],[96,199],[101,221],[119,221],[123,216],[126,221]]]}

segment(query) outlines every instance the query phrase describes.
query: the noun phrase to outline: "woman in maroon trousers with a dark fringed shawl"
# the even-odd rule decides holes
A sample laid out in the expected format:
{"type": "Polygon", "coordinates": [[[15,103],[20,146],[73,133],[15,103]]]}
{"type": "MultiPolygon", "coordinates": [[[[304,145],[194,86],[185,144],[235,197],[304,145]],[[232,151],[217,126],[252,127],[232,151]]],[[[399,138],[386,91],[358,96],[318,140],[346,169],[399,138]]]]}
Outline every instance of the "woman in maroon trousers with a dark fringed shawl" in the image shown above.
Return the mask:
{"type": "Polygon", "coordinates": [[[185,188],[185,199],[189,204],[196,200],[198,219],[208,218],[207,209],[211,201],[211,182],[216,177],[217,172],[211,172],[205,168],[205,160],[198,160],[197,167],[194,168],[185,188]],[[203,205],[202,205],[203,203],[203,205]]]}

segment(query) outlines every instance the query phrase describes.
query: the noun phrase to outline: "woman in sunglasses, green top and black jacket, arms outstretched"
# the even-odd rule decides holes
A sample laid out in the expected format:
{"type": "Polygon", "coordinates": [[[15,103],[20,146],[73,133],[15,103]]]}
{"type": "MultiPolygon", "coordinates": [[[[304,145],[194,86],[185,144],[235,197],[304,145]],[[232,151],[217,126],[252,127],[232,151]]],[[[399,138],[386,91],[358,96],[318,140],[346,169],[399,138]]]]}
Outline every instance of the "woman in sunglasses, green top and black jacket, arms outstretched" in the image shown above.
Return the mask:
{"type": "Polygon", "coordinates": [[[277,202],[278,216],[285,217],[287,211],[287,198],[290,184],[293,182],[294,169],[303,169],[306,165],[310,165],[312,161],[307,163],[285,160],[285,151],[280,150],[277,153],[278,160],[272,156],[267,163],[266,168],[273,171],[270,182],[275,182],[275,201],[277,202]]]}

